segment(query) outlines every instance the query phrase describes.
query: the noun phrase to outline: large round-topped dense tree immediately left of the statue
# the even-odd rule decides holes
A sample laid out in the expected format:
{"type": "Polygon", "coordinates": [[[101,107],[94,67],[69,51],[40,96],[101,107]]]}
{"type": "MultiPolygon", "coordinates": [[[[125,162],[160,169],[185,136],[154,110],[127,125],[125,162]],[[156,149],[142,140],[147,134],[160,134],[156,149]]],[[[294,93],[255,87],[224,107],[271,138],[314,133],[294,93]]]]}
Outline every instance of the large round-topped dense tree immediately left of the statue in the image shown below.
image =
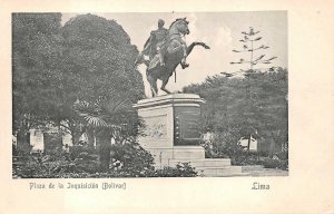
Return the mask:
{"type": "MultiPolygon", "coordinates": [[[[81,14],[62,28],[65,52],[61,59],[65,97],[63,111],[72,139],[78,140],[78,118],[71,108],[76,100],[95,101],[98,97],[127,97],[136,103],[144,97],[141,75],[134,67],[138,50],[114,20],[81,14]]],[[[61,118],[58,116],[58,118],[61,118]]]]}

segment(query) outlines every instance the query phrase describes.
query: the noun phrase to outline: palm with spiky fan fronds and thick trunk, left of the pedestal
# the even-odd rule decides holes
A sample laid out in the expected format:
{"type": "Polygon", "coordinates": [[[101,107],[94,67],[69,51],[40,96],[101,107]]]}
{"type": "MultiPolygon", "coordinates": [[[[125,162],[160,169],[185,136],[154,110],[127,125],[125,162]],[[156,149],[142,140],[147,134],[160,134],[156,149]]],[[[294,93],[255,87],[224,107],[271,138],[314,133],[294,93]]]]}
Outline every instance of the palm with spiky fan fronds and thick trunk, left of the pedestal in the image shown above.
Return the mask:
{"type": "Polygon", "coordinates": [[[95,101],[77,101],[75,109],[82,118],[87,133],[91,133],[99,150],[100,169],[108,171],[111,138],[124,143],[138,134],[140,120],[130,100],[124,97],[99,97],[95,101]]]}

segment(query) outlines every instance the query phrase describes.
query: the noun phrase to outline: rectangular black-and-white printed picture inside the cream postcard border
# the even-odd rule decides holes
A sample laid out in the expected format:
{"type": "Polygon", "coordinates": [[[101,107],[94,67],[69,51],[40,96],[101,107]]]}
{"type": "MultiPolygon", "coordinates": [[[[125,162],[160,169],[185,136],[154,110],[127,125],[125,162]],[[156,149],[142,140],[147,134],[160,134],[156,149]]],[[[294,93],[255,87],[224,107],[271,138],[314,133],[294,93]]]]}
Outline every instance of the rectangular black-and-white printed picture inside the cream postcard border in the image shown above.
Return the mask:
{"type": "Polygon", "coordinates": [[[12,13],[12,177],[288,175],[287,12],[12,13]]]}

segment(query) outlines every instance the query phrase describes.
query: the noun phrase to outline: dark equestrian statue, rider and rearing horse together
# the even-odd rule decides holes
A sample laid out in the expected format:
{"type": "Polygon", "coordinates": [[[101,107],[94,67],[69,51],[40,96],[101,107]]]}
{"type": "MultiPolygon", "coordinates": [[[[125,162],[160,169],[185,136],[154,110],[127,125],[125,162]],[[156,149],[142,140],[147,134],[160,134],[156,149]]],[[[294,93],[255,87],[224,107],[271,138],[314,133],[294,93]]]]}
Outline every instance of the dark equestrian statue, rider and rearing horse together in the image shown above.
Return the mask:
{"type": "Polygon", "coordinates": [[[170,91],[166,89],[170,76],[175,72],[178,65],[180,65],[183,69],[189,66],[186,62],[186,58],[195,46],[209,49],[206,43],[198,41],[187,47],[183,38],[190,32],[188,23],[186,18],[176,19],[167,30],[164,28],[164,20],[159,19],[158,29],[151,31],[150,37],[144,45],[144,50],[135,61],[135,66],[139,64],[147,66],[146,76],[150,85],[153,97],[158,95],[158,79],[163,81],[160,89],[170,94],[170,91]],[[148,60],[146,60],[144,56],[148,56],[148,60]]]}

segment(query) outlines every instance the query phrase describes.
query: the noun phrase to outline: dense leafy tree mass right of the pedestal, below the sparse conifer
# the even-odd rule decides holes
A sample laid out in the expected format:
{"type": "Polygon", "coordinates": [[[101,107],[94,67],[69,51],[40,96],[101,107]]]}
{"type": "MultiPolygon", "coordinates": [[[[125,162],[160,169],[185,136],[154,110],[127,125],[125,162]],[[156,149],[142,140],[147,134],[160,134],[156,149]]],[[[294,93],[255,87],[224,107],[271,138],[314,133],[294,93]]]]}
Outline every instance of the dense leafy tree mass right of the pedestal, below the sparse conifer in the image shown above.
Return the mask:
{"type": "MultiPolygon", "coordinates": [[[[249,134],[263,145],[274,142],[274,152],[287,142],[287,71],[247,71],[243,78],[208,77],[200,85],[184,88],[206,99],[204,128],[214,130],[219,140],[237,143],[249,134]],[[249,88],[250,91],[249,91],[249,88]]],[[[222,142],[223,143],[223,142],[222,142]]]]}

